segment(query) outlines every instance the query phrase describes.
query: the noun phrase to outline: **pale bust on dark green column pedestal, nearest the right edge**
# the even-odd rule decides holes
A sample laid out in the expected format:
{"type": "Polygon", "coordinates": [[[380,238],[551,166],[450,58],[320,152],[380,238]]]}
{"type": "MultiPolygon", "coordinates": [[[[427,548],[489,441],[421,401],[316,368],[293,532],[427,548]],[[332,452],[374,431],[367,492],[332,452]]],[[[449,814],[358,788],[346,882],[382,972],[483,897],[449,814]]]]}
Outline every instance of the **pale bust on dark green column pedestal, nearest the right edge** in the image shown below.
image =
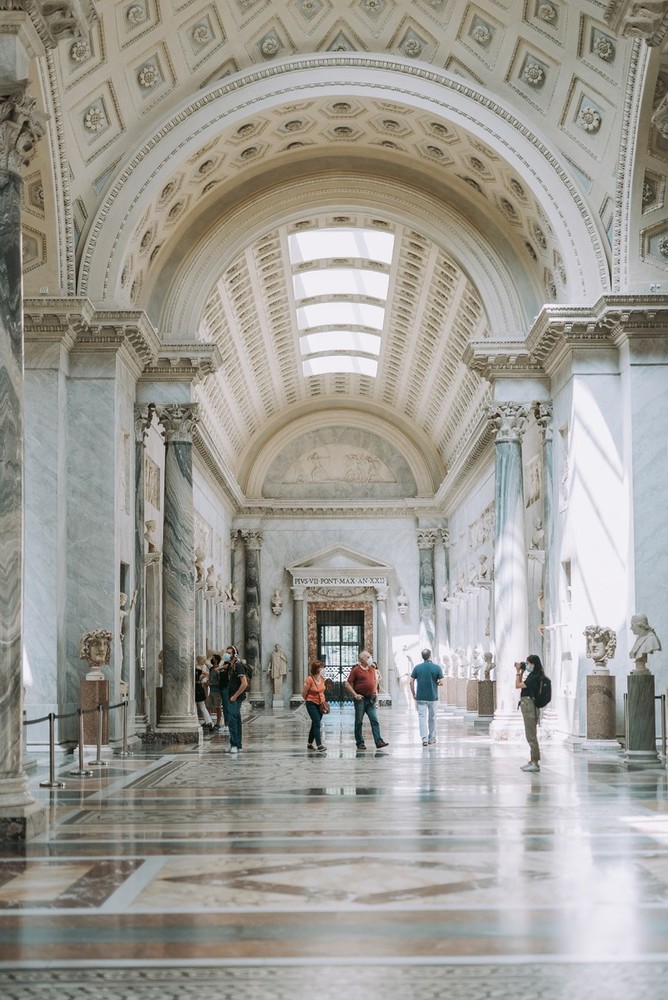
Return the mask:
{"type": "Polygon", "coordinates": [[[654,709],[654,674],[647,667],[647,657],[661,649],[647,615],[633,615],[631,631],[636,636],[630,658],[635,666],[628,676],[626,704],[627,763],[653,765],[658,760],[656,752],[656,722],[654,709]]]}

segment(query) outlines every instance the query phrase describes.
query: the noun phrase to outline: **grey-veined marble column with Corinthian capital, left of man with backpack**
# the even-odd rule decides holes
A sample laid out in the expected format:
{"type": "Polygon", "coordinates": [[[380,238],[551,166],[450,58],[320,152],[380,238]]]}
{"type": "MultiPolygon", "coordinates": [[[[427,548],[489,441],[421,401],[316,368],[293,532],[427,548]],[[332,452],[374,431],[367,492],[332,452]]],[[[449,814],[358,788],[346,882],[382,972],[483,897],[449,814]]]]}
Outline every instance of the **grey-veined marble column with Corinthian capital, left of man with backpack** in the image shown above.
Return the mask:
{"type": "Polygon", "coordinates": [[[177,742],[197,742],[192,477],[197,404],[161,404],[156,415],[165,435],[162,714],[156,730],[177,742]]]}

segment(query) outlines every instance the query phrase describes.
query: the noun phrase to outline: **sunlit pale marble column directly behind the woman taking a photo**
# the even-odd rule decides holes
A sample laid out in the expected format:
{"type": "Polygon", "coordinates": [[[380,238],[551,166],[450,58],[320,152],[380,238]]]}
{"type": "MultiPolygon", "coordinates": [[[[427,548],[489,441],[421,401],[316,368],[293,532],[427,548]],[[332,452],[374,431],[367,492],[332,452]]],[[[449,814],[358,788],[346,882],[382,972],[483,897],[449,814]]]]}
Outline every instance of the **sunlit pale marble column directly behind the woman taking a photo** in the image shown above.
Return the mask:
{"type": "Polygon", "coordinates": [[[524,531],[522,434],[529,406],[493,403],[488,417],[496,431],[496,547],[494,552],[494,641],[497,707],[490,736],[521,740],[523,723],[517,710],[516,660],[528,653],[527,569],[524,531]]]}

